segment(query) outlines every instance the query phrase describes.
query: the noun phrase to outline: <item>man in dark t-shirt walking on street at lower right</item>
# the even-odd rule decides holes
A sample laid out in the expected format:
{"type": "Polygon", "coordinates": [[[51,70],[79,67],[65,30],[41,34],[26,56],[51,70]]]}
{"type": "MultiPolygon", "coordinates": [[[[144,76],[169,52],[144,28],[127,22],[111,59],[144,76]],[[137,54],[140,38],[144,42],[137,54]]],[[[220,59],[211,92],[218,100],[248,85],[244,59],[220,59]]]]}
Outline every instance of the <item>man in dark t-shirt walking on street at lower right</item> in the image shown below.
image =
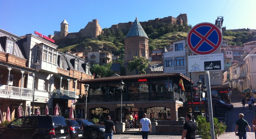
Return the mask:
{"type": "Polygon", "coordinates": [[[248,124],[248,122],[243,119],[244,114],[239,114],[239,120],[236,121],[236,127],[235,127],[235,135],[239,137],[239,139],[246,139],[246,126],[249,129],[249,132],[251,132],[251,128],[248,124]],[[238,133],[236,133],[238,131],[238,133]]]}

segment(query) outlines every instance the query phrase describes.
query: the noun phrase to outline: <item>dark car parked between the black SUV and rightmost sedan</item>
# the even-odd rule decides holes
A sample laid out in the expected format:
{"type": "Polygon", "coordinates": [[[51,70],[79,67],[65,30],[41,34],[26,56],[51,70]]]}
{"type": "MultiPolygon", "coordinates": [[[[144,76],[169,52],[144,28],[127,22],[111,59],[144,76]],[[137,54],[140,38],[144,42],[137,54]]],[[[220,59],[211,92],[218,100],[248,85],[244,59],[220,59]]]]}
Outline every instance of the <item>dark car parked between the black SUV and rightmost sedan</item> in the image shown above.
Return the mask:
{"type": "Polygon", "coordinates": [[[69,125],[70,139],[79,139],[83,137],[83,126],[75,119],[66,119],[69,125]]]}

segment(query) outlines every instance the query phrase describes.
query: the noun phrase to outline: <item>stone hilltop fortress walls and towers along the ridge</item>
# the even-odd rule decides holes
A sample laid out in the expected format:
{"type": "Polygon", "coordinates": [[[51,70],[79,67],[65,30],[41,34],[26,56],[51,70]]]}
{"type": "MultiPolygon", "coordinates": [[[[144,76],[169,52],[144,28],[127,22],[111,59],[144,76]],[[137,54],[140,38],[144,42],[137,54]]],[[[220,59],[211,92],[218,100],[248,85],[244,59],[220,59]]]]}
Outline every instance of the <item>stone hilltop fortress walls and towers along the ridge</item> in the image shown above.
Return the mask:
{"type": "MultiPolygon", "coordinates": [[[[128,32],[131,28],[133,22],[128,23],[118,23],[111,26],[114,30],[121,29],[123,32],[128,32]]],[[[156,18],[155,20],[149,20],[145,22],[140,22],[142,26],[144,25],[152,25],[153,27],[157,27],[157,23],[172,23],[177,25],[183,25],[184,23],[188,24],[187,14],[180,14],[177,18],[172,16],[165,17],[165,18],[156,18]]],[[[81,37],[88,37],[88,38],[97,38],[98,35],[102,34],[102,28],[99,25],[97,19],[93,19],[92,22],[88,22],[87,25],[80,29],[79,32],[68,32],[68,23],[64,19],[61,23],[61,31],[54,31],[54,35],[49,35],[49,38],[53,40],[59,39],[74,39],[74,38],[81,38],[81,37]]]]}

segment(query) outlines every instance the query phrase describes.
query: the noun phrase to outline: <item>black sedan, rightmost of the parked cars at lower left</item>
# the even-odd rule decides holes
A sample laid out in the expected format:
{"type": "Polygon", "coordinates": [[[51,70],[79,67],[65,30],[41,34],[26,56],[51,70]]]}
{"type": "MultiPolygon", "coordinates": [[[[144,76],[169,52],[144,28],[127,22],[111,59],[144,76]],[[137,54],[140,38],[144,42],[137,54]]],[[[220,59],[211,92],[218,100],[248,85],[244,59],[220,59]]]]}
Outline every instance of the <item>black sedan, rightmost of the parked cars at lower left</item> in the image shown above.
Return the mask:
{"type": "Polygon", "coordinates": [[[92,120],[88,119],[75,119],[79,124],[83,126],[83,136],[92,139],[102,138],[105,135],[105,126],[96,124],[92,120]]]}

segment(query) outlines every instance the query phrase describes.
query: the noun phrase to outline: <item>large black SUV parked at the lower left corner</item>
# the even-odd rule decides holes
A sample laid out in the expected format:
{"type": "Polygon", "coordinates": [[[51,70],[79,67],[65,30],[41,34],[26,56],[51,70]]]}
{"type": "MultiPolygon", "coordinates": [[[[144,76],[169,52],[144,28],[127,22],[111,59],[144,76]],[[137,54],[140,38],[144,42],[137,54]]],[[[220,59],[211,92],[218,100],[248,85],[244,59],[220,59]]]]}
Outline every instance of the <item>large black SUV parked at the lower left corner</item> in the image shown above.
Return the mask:
{"type": "Polygon", "coordinates": [[[0,139],[69,139],[63,116],[21,116],[0,127],[0,139]]]}

